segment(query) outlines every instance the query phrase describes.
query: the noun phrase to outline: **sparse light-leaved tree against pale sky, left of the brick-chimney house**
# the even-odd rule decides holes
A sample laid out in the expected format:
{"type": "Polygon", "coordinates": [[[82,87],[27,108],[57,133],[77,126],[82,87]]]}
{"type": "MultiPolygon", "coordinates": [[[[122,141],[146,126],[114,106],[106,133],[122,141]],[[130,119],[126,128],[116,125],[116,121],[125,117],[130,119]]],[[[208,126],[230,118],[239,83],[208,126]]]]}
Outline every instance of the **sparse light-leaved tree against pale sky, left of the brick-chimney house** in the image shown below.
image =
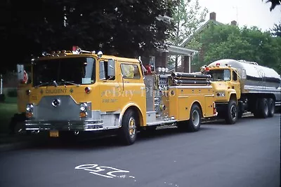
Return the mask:
{"type": "MultiPolygon", "coordinates": [[[[174,31],[171,32],[168,43],[179,46],[184,39],[191,36],[198,27],[205,21],[207,8],[202,8],[198,0],[179,0],[178,6],[174,9],[173,22],[174,31]]],[[[175,70],[178,67],[178,56],[176,56],[175,70]]]]}

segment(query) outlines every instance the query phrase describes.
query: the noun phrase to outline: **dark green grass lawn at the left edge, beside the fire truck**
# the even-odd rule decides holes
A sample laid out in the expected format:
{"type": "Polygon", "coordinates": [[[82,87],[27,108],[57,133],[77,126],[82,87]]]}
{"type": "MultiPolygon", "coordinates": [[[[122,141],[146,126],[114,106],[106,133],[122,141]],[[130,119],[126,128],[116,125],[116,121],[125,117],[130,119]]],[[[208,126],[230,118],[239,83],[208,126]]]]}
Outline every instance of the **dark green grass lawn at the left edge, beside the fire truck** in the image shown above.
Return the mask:
{"type": "Polygon", "coordinates": [[[5,102],[0,102],[0,134],[8,133],[8,123],[10,123],[11,117],[17,112],[16,97],[6,97],[5,102]]]}

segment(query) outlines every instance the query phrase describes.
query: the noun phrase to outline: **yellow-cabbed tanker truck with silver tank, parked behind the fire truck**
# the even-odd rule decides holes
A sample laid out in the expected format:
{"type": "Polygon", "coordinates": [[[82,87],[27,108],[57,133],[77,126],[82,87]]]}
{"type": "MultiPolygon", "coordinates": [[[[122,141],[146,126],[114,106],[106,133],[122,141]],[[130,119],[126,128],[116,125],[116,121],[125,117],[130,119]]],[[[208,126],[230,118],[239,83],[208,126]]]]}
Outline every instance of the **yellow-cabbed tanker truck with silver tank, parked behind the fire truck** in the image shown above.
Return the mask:
{"type": "Polygon", "coordinates": [[[280,107],[280,75],[256,62],[223,59],[201,68],[211,75],[218,118],[234,124],[245,112],[273,117],[280,107]]]}

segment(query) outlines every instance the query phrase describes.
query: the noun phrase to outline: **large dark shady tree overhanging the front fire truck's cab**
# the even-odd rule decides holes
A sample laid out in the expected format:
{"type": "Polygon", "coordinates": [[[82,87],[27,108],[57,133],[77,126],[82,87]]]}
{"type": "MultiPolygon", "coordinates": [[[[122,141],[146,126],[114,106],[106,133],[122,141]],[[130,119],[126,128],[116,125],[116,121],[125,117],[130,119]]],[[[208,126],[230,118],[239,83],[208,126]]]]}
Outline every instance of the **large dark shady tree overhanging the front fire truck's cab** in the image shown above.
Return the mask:
{"type": "Polygon", "coordinates": [[[126,57],[152,53],[174,27],[156,18],[171,16],[176,1],[1,1],[0,36],[13,56],[8,66],[74,45],[126,57]]]}

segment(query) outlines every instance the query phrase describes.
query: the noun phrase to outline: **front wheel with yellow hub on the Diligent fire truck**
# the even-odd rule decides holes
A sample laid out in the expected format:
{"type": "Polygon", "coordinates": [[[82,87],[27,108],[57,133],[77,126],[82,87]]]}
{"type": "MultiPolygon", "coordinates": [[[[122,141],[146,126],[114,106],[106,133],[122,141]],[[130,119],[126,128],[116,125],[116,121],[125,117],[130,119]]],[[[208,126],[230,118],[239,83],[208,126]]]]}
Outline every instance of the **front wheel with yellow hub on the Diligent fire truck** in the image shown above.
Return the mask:
{"type": "Polygon", "coordinates": [[[122,127],[119,134],[124,145],[131,145],[136,141],[138,118],[133,110],[129,109],[124,113],[122,118],[122,127]]]}

